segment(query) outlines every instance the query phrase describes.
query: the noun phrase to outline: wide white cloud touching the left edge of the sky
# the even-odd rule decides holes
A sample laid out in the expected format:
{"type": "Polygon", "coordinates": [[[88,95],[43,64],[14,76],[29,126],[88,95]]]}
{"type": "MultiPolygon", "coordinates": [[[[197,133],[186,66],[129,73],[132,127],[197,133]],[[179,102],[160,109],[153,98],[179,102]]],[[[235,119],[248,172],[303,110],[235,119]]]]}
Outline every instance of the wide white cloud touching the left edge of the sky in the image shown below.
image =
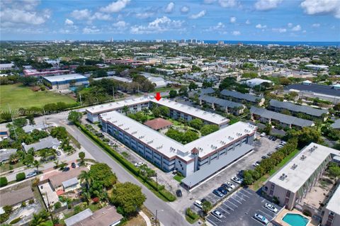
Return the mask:
{"type": "Polygon", "coordinates": [[[0,21],[9,24],[41,25],[50,18],[50,11],[25,11],[23,9],[4,9],[0,12],[0,21]]]}

